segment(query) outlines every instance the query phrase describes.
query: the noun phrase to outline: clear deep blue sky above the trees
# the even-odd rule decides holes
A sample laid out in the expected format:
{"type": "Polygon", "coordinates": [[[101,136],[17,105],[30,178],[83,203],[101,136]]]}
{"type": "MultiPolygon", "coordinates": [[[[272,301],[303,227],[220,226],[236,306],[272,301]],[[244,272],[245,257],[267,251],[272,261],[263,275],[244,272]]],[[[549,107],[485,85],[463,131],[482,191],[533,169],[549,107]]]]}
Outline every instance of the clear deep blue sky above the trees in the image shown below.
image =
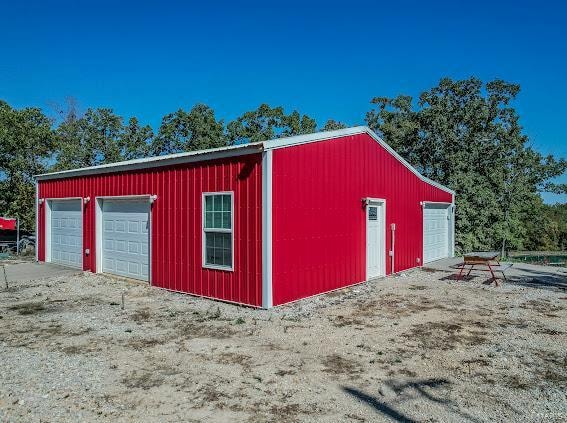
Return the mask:
{"type": "MultiPolygon", "coordinates": [[[[373,96],[443,76],[517,82],[535,148],[567,157],[561,2],[6,1],[0,98],[68,96],[159,125],[196,102],[231,119],[260,103],[363,123],[373,96]],[[275,3],[275,2],[274,2],[275,3]]],[[[567,177],[562,178],[567,182],[567,177]]],[[[549,196],[547,201],[567,201],[549,196]]]]}

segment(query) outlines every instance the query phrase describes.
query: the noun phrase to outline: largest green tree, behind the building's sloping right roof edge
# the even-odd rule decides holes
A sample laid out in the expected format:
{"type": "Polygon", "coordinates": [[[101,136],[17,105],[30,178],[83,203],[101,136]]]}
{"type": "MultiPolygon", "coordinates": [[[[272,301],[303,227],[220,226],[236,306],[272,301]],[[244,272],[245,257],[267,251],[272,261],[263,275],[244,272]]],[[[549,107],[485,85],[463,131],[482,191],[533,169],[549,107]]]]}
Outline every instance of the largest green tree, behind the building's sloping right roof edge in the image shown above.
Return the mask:
{"type": "Polygon", "coordinates": [[[522,248],[541,213],[540,191],[567,163],[529,147],[510,105],[520,87],[501,80],[442,79],[422,93],[377,97],[368,125],[421,173],[457,192],[461,250],[522,248]]]}

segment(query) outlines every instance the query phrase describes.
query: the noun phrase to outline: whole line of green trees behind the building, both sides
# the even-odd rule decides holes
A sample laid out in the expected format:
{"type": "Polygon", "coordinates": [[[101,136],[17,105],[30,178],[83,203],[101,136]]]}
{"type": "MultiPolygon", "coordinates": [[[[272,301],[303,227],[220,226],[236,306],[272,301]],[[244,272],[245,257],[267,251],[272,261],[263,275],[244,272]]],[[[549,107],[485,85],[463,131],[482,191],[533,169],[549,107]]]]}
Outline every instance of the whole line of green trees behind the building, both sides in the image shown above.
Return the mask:
{"type": "MultiPolygon", "coordinates": [[[[361,116],[422,174],[457,192],[460,251],[565,248],[565,225],[553,223],[557,213],[541,193],[567,192],[565,184],[550,182],[567,162],[530,146],[512,106],[519,91],[502,80],[444,78],[417,99],[374,97],[361,116]]],[[[344,127],[335,120],[319,126],[308,115],[267,104],[224,122],[197,104],[167,114],[154,132],[109,108],[80,113],[69,102],[48,117],[39,108],[15,109],[0,100],[0,215],[18,216],[32,230],[33,175],[46,171],[344,127]]]]}

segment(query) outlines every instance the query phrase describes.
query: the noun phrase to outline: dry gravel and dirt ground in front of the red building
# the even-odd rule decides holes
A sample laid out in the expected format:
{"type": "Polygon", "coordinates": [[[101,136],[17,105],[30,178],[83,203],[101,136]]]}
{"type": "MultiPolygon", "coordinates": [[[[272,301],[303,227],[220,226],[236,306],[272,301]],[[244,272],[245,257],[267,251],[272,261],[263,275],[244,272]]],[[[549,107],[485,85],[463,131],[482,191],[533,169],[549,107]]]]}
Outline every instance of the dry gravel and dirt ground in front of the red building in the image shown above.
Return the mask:
{"type": "Polygon", "coordinates": [[[270,311],[90,273],[2,286],[0,421],[565,421],[567,292],[481,281],[270,311]]]}

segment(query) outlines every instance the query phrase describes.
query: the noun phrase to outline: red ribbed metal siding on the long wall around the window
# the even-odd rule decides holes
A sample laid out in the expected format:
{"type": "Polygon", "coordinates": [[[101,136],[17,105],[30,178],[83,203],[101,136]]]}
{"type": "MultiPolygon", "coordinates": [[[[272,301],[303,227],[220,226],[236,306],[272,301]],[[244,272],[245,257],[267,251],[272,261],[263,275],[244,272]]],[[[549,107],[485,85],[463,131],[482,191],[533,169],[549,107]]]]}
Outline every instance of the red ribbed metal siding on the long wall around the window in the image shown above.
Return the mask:
{"type": "MultiPolygon", "coordinates": [[[[152,285],[253,306],[262,302],[261,155],[40,181],[39,198],[90,197],[83,219],[83,269],[96,270],[95,198],[155,194],[152,285]],[[234,191],[235,271],[202,268],[202,193],[234,191]]],[[[45,207],[39,213],[39,260],[45,260],[45,207]]]]}

